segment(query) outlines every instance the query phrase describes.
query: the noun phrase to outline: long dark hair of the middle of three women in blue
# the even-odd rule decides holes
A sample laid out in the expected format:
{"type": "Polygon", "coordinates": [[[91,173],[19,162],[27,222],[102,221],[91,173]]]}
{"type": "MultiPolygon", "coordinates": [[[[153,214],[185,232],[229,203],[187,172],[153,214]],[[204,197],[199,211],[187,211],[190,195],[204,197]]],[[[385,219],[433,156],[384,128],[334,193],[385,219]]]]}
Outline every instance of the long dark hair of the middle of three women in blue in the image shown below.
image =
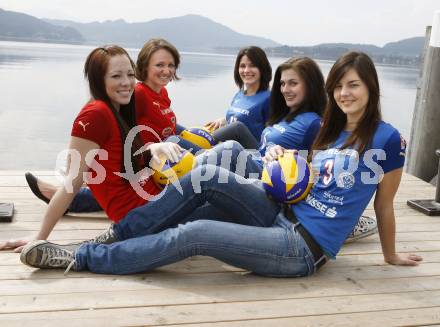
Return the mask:
{"type": "Polygon", "coordinates": [[[326,103],[324,76],[318,64],[308,57],[291,58],[279,65],[275,71],[267,125],[276,124],[282,119],[288,122],[292,121],[298,114],[303,112],[316,112],[319,116],[322,116],[326,103]],[[281,73],[288,69],[293,69],[305,84],[304,101],[293,112],[287,106],[281,93],[281,73]]]}

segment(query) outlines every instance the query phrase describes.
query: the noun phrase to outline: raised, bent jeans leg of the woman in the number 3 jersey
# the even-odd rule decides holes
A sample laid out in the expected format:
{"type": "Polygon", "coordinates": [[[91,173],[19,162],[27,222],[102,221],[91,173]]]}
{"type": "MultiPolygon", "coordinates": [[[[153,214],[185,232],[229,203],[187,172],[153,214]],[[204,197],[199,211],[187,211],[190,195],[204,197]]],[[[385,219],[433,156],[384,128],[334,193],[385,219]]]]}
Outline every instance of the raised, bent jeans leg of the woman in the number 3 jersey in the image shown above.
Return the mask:
{"type": "Polygon", "coordinates": [[[227,221],[249,226],[271,226],[280,206],[267,198],[259,180],[249,180],[229,170],[199,165],[180,180],[182,193],[169,185],[156,201],[131,210],[114,225],[119,240],[161,232],[195,219],[216,220],[220,210],[227,221]],[[206,178],[197,178],[204,176],[206,178]],[[203,211],[203,216],[197,214],[203,211]]]}

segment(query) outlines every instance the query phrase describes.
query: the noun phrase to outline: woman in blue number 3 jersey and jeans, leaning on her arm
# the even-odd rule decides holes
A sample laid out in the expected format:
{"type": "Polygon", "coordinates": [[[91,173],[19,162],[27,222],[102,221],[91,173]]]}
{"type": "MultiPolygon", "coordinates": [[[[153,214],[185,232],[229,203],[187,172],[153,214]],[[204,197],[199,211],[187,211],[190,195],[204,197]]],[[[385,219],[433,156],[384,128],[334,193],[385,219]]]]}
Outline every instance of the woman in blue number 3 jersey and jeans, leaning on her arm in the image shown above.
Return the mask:
{"type": "Polygon", "coordinates": [[[393,199],[405,142],[381,120],[373,62],[363,53],[343,55],[329,73],[326,90],[330,101],[313,145],[320,150],[313,158],[319,174],[306,201],[283,209],[267,199],[258,182],[203,165],[196,170],[213,178],[199,180],[197,188],[187,175],[181,181],[184,196],[170,188],[162,197],[173,205],[156,201],[132,210],[107,232],[107,241],[118,242],[61,246],[35,241],[23,249],[21,261],[39,268],[129,274],[206,255],[265,276],[307,276],[336,256],[375,194],[384,260],[417,265],[420,256],[395,251],[393,199]],[[156,234],[142,230],[150,216],[179,221],[206,201],[229,211],[234,223],[198,220],[156,234]]]}

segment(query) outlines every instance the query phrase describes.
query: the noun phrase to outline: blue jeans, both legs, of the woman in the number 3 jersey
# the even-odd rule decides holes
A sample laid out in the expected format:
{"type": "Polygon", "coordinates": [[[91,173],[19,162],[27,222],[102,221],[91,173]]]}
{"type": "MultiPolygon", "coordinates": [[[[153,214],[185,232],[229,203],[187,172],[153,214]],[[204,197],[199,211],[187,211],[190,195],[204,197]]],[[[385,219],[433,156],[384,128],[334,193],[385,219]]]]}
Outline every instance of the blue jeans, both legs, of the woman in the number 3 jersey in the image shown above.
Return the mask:
{"type": "Polygon", "coordinates": [[[121,241],[81,245],[74,269],[130,274],[206,255],[266,276],[297,277],[315,271],[309,248],[280,213],[281,207],[267,198],[260,181],[250,183],[212,165],[193,172],[213,177],[194,187],[188,174],[181,179],[183,194],[170,186],[160,200],[133,209],[113,228],[121,241]],[[208,201],[227,212],[230,222],[192,221],[191,213],[208,201]]]}

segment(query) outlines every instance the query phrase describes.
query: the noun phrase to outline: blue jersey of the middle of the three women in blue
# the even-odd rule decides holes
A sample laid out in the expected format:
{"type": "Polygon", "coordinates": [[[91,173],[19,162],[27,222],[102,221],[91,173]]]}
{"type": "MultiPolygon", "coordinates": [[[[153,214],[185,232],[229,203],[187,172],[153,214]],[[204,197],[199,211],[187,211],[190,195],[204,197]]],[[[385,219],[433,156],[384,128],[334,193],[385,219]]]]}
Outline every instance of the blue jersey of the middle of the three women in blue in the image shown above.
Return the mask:
{"type": "Polygon", "coordinates": [[[282,120],[264,129],[258,151],[264,157],[266,149],[273,145],[281,145],[285,149],[309,150],[320,127],[321,117],[314,112],[299,114],[290,122],[282,120]]]}

